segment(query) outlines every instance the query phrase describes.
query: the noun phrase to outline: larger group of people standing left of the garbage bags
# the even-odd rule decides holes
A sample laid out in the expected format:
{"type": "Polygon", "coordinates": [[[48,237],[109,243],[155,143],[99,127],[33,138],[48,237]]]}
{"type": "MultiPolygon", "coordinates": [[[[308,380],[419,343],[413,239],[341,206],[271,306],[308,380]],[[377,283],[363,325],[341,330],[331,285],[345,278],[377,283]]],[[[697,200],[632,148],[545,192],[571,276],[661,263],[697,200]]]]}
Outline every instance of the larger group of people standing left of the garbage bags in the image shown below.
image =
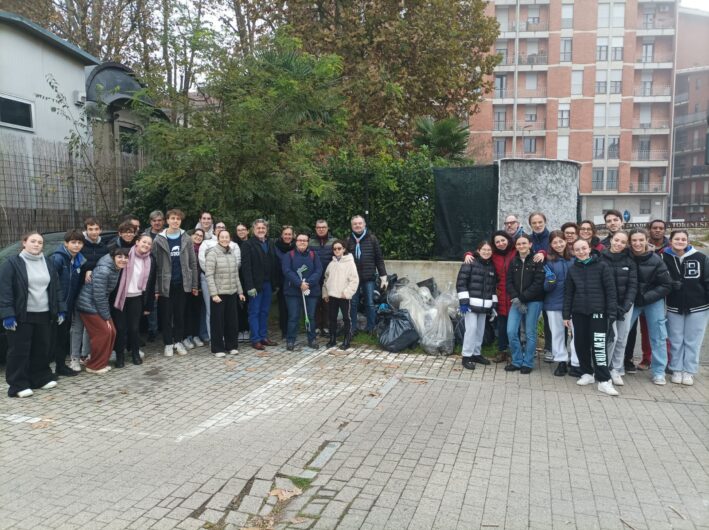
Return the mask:
{"type": "Polygon", "coordinates": [[[148,340],[158,331],[164,355],[186,355],[210,343],[216,357],[237,355],[238,342],[256,350],[277,346],[269,338],[273,294],[286,347],[293,351],[301,319],[307,346],[319,347],[318,332],[336,345],[342,314],[342,349],[350,346],[357,307],[363,299],[366,330],[375,324],[374,290],[387,275],[379,242],[362,216],[351,219],[344,239],[327,221],[311,237],[284,226],[276,240],[269,224],[238,224],[232,236],[209,212],[189,233],[179,209],[150,214],[141,232],[126,216],[115,237],[105,240],[90,217],[84,230],[69,230],[45,257],[44,238],[26,234],[18,255],[0,269],[0,320],[7,337],[6,379],[10,397],[50,389],[60,376],[105,374],[123,368],[126,350],[142,364],[141,321],[148,340]],[[50,363],[54,362],[52,371],[50,363]]]}

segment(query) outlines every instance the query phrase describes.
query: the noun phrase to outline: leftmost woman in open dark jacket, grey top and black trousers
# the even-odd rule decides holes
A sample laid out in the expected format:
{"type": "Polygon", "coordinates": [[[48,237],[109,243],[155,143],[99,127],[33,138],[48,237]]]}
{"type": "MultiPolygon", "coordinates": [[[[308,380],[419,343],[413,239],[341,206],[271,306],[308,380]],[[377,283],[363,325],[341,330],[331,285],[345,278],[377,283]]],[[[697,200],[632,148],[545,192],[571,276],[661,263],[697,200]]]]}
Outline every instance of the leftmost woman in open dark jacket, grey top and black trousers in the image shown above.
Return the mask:
{"type": "Polygon", "coordinates": [[[29,397],[32,389],[57,386],[49,367],[52,322],[61,325],[66,306],[59,277],[42,254],[44,238],[30,232],[22,251],[0,269],[0,319],[7,336],[5,380],[10,397],[29,397]]]}

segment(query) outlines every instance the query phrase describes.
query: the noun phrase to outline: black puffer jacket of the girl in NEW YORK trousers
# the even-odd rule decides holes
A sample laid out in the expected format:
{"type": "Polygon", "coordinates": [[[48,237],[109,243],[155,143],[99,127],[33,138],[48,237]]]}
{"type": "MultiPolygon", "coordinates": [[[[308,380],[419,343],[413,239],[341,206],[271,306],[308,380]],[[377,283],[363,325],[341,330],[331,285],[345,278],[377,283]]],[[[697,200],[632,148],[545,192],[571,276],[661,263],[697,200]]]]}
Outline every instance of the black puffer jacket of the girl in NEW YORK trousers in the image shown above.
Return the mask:
{"type": "Polygon", "coordinates": [[[613,270],[598,256],[591,256],[588,263],[576,260],[569,268],[564,284],[564,320],[572,313],[604,313],[609,320],[616,320],[618,298],[613,270]]]}

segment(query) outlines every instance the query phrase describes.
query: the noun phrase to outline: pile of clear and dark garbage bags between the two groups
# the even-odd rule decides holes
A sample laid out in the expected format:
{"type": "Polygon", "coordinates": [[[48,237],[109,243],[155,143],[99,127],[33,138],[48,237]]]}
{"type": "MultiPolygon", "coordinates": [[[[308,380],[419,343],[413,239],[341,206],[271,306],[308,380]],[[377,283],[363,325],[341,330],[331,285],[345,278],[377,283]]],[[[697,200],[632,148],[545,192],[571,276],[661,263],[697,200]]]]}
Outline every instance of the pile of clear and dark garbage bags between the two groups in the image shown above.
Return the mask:
{"type": "Polygon", "coordinates": [[[437,291],[433,279],[417,285],[401,278],[390,286],[378,310],[377,331],[384,349],[399,352],[420,342],[428,354],[453,353],[458,297],[452,285],[437,291]]]}

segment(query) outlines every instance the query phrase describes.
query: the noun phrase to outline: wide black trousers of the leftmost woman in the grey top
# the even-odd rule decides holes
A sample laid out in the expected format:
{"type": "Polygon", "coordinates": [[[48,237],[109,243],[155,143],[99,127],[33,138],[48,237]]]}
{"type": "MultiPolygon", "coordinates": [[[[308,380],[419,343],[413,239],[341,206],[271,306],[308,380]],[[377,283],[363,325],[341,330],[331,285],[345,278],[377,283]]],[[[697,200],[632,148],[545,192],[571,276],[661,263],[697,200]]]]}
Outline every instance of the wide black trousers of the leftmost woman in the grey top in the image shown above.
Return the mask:
{"type": "Polygon", "coordinates": [[[27,388],[41,388],[54,380],[49,368],[52,325],[49,312],[27,313],[16,331],[7,332],[7,395],[15,397],[27,388]]]}

